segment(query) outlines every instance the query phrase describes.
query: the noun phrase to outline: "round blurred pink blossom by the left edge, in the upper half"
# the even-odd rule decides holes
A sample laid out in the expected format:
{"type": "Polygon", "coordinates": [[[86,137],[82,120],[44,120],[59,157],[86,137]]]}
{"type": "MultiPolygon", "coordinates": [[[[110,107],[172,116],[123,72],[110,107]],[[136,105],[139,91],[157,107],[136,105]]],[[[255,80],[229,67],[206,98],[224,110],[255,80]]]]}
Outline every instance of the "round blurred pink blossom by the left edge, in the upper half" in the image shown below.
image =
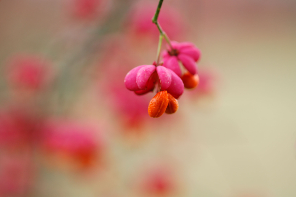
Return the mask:
{"type": "Polygon", "coordinates": [[[52,78],[52,64],[37,55],[17,54],[7,67],[9,83],[16,87],[40,89],[52,78]]]}

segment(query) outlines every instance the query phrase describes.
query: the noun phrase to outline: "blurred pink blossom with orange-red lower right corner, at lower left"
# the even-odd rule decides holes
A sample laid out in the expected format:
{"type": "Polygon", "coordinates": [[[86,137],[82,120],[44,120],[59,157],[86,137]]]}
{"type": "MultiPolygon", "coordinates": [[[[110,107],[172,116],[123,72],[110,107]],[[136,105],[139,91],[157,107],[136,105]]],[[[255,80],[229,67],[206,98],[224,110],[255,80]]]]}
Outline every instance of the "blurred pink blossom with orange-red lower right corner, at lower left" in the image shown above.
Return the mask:
{"type": "Polygon", "coordinates": [[[92,124],[75,121],[49,122],[45,128],[44,148],[49,154],[66,156],[81,167],[90,167],[103,154],[104,139],[92,124]]]}

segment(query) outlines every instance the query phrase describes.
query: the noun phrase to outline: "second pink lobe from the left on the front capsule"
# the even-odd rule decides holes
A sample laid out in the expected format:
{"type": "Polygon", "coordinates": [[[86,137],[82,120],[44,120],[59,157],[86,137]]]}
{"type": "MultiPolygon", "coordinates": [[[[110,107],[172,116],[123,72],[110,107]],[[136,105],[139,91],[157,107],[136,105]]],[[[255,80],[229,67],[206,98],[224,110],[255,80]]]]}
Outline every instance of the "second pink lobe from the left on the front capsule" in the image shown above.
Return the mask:
{"type": "Polygon", "coordinates": [[[138,71],[136,82],[139,89],[146,90],[148,88],[147,82],[150,76],[154,73],[155,69],[156,67],[154,65],[146,65],[138,71]]]}

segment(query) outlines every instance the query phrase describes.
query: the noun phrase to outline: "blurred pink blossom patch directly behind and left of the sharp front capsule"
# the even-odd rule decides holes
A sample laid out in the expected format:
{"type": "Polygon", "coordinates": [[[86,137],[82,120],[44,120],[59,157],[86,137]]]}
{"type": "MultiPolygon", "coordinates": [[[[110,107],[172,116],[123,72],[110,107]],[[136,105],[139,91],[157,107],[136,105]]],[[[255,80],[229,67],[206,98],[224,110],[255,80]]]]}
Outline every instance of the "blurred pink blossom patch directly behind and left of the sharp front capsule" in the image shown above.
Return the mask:
{"type": "MultiPolygon", "coordinates": [[[[140,128],[150,118],[148,103],[151,95],[138,96],[125,88],[124,77],[136,65],[130,48],[122,38],[111,39],[104,59],[98,63],[100,76],[98,91],[106,95],[110,108],[126,128],[140,128]],[[102,66],[104,65],[104,66],[102,66]]],[[[130,130],[130,129],[128,129],[130,130]]]]}

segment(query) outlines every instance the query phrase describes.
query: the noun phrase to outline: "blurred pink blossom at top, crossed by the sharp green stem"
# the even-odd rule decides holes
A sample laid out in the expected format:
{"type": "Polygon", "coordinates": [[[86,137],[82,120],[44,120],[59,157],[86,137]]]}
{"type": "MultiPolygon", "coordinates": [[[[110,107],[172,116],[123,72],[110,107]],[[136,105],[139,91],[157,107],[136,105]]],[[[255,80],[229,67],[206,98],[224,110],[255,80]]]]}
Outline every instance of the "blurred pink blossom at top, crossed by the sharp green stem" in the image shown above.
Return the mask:
{"type": "MultiPolygon", "coordinates": [[[[148,36],[158,40],[159,32],[155,24],[152,23],[152,17],[155,14],[157,2],[140,1],[130,11],[128,15],[128,28],[136,37],[148,36]]],[[[158,21],[164,31],[171,39],[179,39],[186,32],[185,21],[174,7],[165,4],[161,8],[158,21]]]]}

